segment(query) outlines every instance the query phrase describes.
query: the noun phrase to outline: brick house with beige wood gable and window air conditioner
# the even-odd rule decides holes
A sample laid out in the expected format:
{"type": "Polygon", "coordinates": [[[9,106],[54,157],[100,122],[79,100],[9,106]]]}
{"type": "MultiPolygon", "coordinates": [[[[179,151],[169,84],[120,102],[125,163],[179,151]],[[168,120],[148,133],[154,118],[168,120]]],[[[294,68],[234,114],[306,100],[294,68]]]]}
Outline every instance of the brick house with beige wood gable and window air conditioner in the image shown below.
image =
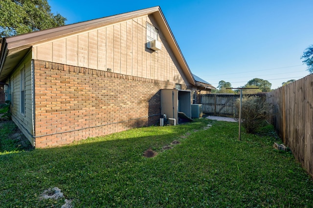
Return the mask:
{"type": "Polygon", "coordinates": [[[154,125],[161,89],[198,90],[158,6],[3,38],[0,82],[36,148],[154,125]]]}

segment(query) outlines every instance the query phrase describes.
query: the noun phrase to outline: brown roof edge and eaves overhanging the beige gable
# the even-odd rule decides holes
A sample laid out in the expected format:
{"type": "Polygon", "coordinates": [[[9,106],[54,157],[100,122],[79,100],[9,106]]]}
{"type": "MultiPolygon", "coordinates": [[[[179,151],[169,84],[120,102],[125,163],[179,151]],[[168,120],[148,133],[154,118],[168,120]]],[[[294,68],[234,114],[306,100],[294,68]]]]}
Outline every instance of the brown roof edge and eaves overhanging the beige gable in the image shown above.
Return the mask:
{"type": "Polygon", "coordinates": [[[3,38],[0,50],[0,82],[5,82],[9,74],[15,69],[17,64],[22,60],[29,49],[36,44],[46,41],[62,38],[68,35],[88,31],[98,27],[118,23],[121,21],[130,20],[144,15],[153,15],[158,23],[159,29],[163,32],[169,46],[174,52],[181,69],[188,82],[195,85],[195,80],[191,71],[184,59],[179,46],[173,36],[173,33],[165,20],[165,17],[159,6],[147,9],[141,9],[133,12],[113,15],[109,17],[99,18],[81,23],[68,24],[51,29],[40,30],[23,35],[18,35],[9,38],[3,38]]]}

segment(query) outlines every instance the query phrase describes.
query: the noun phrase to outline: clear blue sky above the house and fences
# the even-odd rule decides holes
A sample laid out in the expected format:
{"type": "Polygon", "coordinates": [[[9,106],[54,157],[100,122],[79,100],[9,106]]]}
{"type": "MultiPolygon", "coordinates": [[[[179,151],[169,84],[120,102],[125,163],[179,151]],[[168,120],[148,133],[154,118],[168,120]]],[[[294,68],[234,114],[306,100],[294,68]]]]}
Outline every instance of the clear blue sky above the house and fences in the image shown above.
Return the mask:
{"type": "Polygon", "coordinates": [[[309,74],[313,0],[48,0],[66,24],[160,6],[192,73],[217,87],[253,78],[276,89],[309,74]]]}

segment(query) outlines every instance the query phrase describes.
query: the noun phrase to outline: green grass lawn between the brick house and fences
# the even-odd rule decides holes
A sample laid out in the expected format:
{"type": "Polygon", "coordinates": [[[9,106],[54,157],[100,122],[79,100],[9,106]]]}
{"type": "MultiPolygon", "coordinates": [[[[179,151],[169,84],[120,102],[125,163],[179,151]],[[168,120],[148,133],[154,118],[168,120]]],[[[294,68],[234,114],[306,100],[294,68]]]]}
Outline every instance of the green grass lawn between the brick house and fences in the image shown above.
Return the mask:
{"type": "Polygon", "coordinates": [[[68,199],[73,208],[312,208],[312,178],[290,152],[274,150],[274,141],[271,126],[238,141],[237,123],[198,119],[2,151],[0,207],[61,208],[68,199]],[[162,150],[167,145],[173,148],[162,150]],[[143,157],[147,149],[156,157],[143,157]],[[64,197],[42,199],[53,187],[64,197]]]}

